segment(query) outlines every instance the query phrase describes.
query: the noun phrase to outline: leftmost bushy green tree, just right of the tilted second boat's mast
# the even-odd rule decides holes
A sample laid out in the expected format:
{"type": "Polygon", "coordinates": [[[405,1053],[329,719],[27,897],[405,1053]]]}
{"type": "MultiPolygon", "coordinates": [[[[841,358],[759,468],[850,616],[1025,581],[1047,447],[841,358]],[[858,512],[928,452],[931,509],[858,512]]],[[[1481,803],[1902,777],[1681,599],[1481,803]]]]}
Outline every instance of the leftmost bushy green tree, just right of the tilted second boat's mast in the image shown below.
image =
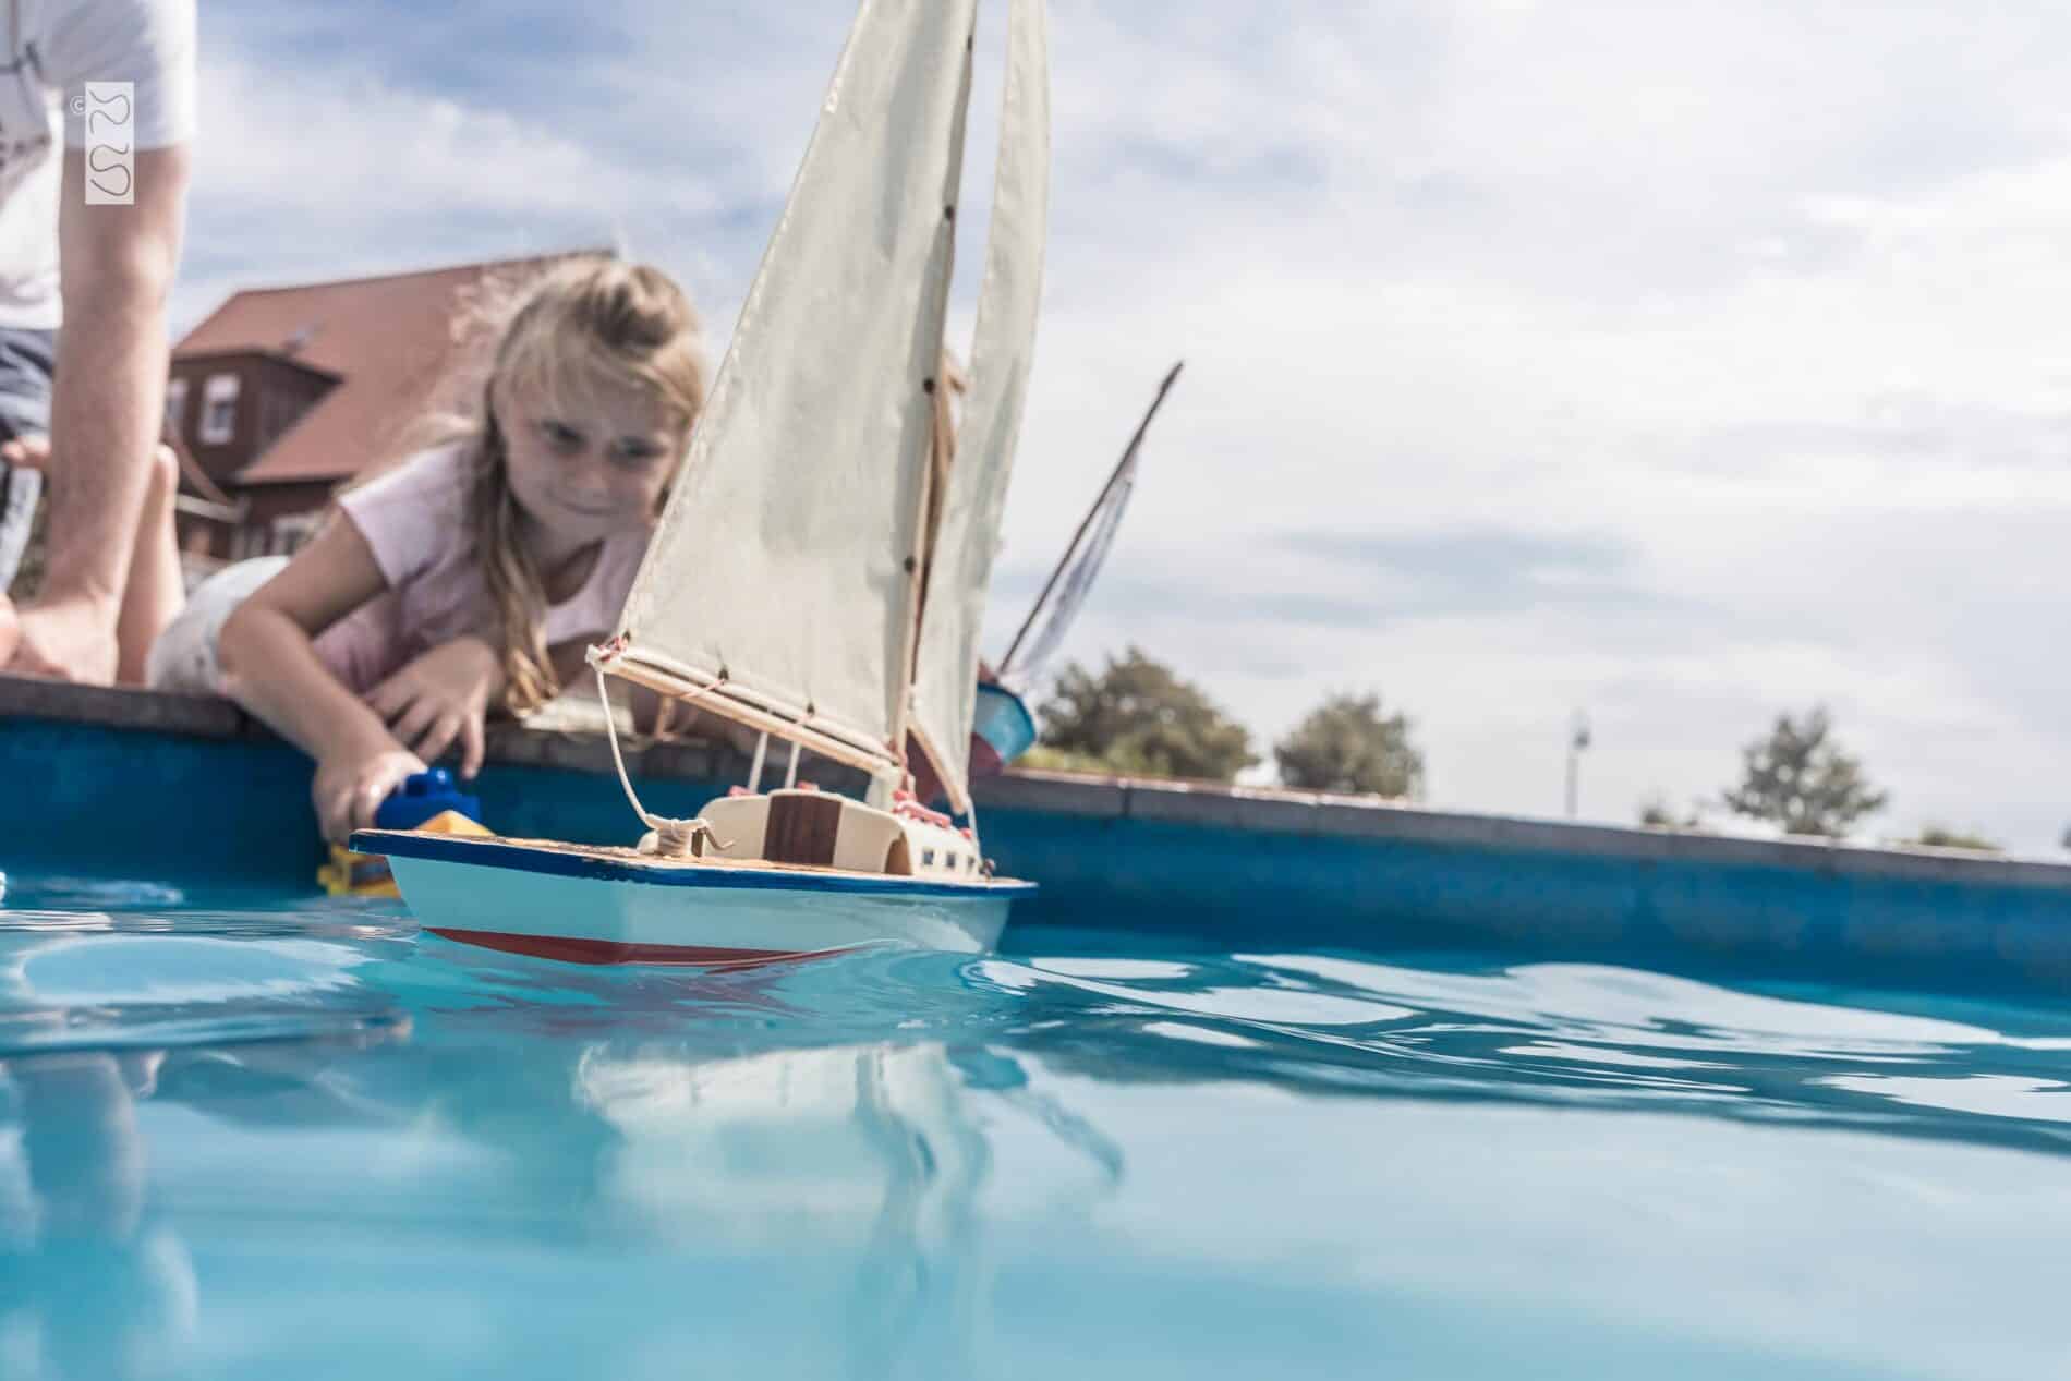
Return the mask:
{"type": "Polygon", "coordinates": [[[1064,667],[1038,714],[1044,747],[1112,772],[1226,783],[1259,760],[1243,725],[1135,646],[1098,675],[1064,667]]]}

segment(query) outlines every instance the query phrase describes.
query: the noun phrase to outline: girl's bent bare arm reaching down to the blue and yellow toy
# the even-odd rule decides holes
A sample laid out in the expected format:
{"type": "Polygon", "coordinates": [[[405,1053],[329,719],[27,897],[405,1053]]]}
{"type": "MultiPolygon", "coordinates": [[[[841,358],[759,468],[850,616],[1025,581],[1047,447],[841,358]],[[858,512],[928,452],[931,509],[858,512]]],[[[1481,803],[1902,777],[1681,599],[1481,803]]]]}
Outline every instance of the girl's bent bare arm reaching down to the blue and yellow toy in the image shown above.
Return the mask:
{"type": "Polygon", "coordinates": [[[224,692],[317,760],[315,803],[327,839],[373,824],[375,807],[425,764],[346,689],[313,638],[387,588],[367,538],[333,518],[273,580],[224,621],[224,692]]]}

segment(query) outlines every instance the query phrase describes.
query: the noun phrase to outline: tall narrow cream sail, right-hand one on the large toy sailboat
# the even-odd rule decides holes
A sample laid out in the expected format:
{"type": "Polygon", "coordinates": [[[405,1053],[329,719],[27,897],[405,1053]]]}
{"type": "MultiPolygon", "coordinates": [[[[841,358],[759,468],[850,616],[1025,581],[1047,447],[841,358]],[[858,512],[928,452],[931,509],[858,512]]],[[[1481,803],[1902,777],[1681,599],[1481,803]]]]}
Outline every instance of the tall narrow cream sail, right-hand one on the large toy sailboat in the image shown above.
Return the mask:
{"type": "Polygon", "coordinates": [[[1013,0],[992,242],[971,342],[971,391],[930,557],[913,731],[957,812],[969,812],[978,638],[1021,433],[1050,219],[1050,56],[1044,0],[1013,0]]]}

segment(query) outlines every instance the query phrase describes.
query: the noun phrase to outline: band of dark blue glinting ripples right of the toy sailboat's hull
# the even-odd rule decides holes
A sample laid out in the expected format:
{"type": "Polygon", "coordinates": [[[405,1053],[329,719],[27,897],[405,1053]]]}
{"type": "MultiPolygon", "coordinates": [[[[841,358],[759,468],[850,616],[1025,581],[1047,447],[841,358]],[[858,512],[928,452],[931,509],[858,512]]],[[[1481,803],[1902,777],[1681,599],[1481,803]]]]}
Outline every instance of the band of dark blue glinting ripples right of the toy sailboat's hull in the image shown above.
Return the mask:
{"type": "MultiPolygon", "coordinates": [[[[988,959],[973,977],[1046,1015],[1067,1066],[1189,1070],[1328,1093],[1479,1097],[1816,1120],[2061,1151],[2065,1023],[1922,998],[1814,1000],[1622,969],[1470,969],[1342,954],[988,959]],[[1936,1002],[1947,1008],[1953,1004],[1936,1002]]],[[[1976,1004],[1974,1004],[1976,1006],[1976,1004]]]]}

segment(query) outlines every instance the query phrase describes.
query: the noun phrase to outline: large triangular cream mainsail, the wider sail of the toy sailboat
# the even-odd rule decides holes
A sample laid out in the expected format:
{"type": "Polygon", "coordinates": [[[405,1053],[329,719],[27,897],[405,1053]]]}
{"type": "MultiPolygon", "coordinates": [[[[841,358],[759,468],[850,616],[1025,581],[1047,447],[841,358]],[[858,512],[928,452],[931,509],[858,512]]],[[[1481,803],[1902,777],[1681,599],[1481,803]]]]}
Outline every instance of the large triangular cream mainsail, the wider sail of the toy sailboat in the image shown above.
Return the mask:
{"type": "Polygon", "coordinates": [[[888,772],[975,0],[864,0],[607,671],[888,772]]]}

